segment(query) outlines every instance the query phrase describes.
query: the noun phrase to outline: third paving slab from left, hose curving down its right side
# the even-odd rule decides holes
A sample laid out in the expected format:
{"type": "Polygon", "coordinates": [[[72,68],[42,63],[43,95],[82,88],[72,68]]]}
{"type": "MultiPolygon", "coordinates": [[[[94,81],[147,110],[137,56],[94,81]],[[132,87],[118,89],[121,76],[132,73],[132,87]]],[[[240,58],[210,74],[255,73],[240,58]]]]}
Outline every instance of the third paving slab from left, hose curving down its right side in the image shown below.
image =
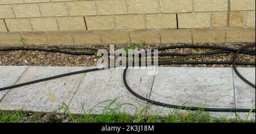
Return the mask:
{"type": "MultiPolygon", "coordinates": [[[[155,68],[156,70],[156,68],[155,68]]],[[[154,79],[154,75],[147,75],[148,70],[132,70],[127,71],[127,83],[135,92],[141,96],[148,97],[154,79]]],[[[152,70],[151,70],[152,71],[152,70]]],[[[111,69],[97,72],[89,72],[85,75],[79,89],[69,104],[69,110],[72,113],[86,113],[89,109],[96,106],[98,103],[106,100],[114,100],[118,97],[113,107],[122,103],[131,103],[138,110],[142,109],[147,104],[135,96],[133,96],[123,84],[122,69],[111,69]],[[84,104],[82,106],[82,104],[84,104]],[[81,112],[82,108],[84,111],[81,112]]],[[[98,106],[107,106],[110,101],[101,103],[98,106]]],[[[134,106],[123,105],[119,112],[129,114],[138,114],[134,106]]],[[[96,107],[94,114],[102,113],[102,107],[96,107]]]]}

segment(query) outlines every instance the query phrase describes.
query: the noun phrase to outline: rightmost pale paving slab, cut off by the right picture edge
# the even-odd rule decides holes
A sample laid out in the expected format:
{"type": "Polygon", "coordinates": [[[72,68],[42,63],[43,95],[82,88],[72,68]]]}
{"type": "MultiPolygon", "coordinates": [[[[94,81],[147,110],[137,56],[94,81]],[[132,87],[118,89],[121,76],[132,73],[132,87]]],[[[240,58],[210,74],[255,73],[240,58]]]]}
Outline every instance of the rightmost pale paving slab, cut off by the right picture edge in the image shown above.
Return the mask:
{"type": "MultiPolygon", "coordinates": [[[[255,68],[237,68],[245,79],[255,84],[255,68]]],[[[234,91],[236,94],[236,107],[241,109],[251,109],[255,104],[255,88],[250,87],[244,81],[234,74],[234,91]]],[[[255,109],[255,107],[254,107],[255,109]]],[[[238,113],[241,119],[245,119],[248,113],[238,113]]],[[[248,119],[255,120],[255,113],[251,114],[248,119]]]]}

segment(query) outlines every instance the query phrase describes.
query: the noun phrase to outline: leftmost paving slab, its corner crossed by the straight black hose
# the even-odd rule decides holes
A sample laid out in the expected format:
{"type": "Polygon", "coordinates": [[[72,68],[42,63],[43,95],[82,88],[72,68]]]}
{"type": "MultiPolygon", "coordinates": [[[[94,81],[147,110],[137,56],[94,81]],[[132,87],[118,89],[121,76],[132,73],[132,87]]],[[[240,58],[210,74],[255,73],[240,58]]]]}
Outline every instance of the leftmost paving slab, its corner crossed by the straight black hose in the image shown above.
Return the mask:
{"type": "MultiPolygon", "coordinates": [[[[0,66],[0,88],[14,85],[27,66],[0,66]]],[[[0,91],[0,100],[9,90],[0,91]]]]}

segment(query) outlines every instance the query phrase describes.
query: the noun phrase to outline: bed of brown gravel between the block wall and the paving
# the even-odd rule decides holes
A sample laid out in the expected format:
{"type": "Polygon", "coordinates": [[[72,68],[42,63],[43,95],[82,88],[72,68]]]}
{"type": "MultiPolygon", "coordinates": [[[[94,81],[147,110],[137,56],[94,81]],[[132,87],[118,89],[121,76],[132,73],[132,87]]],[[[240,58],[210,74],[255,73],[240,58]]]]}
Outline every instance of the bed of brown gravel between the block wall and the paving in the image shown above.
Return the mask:
{"type": "MultiPolygon", "coordinates": [[[[184,45],[184,44],[168,44],[168,45],[135,45],[136,49],[152,49],[154,47],[164,47],[171,45],[184,45]]],[[[191,44],[185,44],[191,45],[191,44]]],[[[210,45],[210,46],[228,46],[235,49],[239,49],[241,46],[245,44],[193,44],[193,45],[210,45]]],[[[115,49],[121,49],[127,47],[129,45],[115,45],[115,49]]],[[[0,46],[0,48],[6,47],[14,47],[14,46],[0,46]]],[[[58,46],[23,46],[23,47],[40,47],[40,48],[52,48],[58,47],[60,49],[67,48],[92,48],[92,49],[106,49],[109,51],[109,45],[58,45],[58,46]]],[[[253,48],[255,49],[255,48],[253,48]]],[[[188,53],[188,54],[199,54],[199,53],[207,53],[209,51],[216,51],[213,49],[191,49],[191,48],[182,48],[182,49],[171,49],[159,51],[159,53],[188,53]]],[[[185,61],[230,61],[232,60],[233,53],[217,55],[213,57],[203,57],[203,58],[189,58],[185,61]]],[[[160,57],[159,59],[173,59],[179,58],[174,56],[168,57],[160,57]]],[[[241,54],[238,58],[239,61],[243,62],[255,62],[255,56],[241,54]]],[[[180,61],[180,60],[176,60],[180,61]]],[[[97,57],[95,55],[71,55],[71,54],[63,54],[63,53],[54,53],[54,52],[46,52],[46,51],[0,51],[0,66],[96,66],[97,65],[97,57]]],[[[171,64],[164,65],[168,67],[231,67],[231,65],[224,64],[171,64]]],[[[239,67],[255,67],[255,66],[239,66],[239,67]]]]}

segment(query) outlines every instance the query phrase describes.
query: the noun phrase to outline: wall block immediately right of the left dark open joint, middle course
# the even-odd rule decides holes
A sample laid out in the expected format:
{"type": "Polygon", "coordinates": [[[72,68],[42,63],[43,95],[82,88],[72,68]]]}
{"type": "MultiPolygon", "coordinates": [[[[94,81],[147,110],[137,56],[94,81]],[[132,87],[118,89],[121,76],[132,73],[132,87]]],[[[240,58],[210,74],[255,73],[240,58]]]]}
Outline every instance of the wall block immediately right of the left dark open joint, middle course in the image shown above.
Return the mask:
{"type": "Polygon", "coordinates": [[[88,30],[114,29],[113,16],[86,16],[88,30]]]}

